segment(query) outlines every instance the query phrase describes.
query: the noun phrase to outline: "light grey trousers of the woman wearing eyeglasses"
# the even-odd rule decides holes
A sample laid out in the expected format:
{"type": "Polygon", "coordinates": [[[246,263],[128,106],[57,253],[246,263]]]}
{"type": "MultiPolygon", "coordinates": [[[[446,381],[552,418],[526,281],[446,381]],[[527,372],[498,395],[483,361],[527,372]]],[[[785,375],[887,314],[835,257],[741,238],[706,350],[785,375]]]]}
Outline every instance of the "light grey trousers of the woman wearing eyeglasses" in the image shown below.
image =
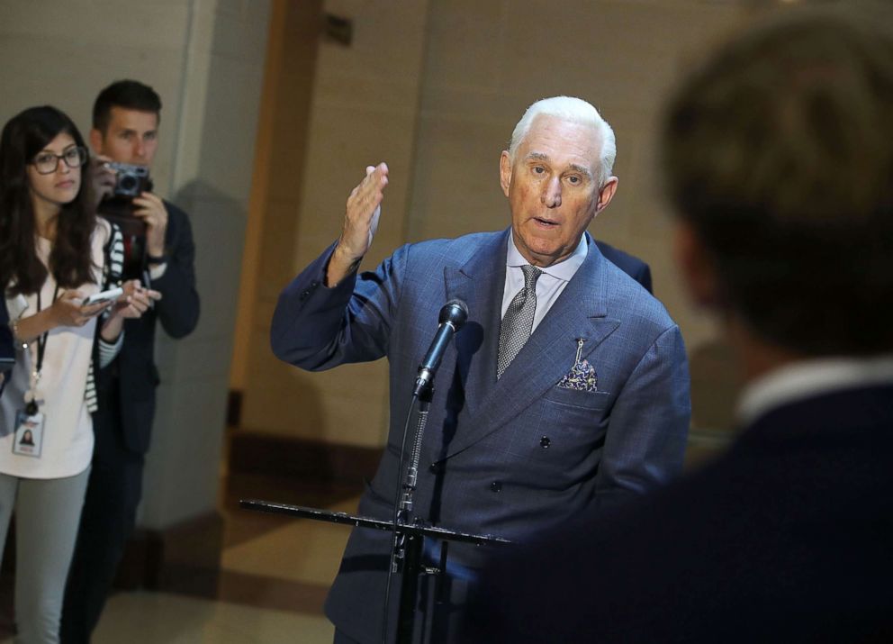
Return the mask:
{"type": "Polygon", "coordinates": [[[15,511],[16,644],[56,644],[90,468],[66,478],[0,474],[0,558],[15,511]]]}

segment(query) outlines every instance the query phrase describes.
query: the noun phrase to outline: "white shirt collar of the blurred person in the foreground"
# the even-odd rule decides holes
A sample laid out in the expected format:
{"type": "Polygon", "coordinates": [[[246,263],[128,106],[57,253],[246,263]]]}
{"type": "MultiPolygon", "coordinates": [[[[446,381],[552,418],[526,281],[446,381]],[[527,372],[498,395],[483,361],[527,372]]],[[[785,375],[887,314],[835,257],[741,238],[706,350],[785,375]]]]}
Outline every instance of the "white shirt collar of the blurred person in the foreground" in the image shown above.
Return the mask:
{"type": "Polygon", "coordinates": [[[746,426],[783,404],[834,390],[888,384],[893,384],[893,355],[805,360],[779,367],[747,385],[737,417],[746,426]]]}

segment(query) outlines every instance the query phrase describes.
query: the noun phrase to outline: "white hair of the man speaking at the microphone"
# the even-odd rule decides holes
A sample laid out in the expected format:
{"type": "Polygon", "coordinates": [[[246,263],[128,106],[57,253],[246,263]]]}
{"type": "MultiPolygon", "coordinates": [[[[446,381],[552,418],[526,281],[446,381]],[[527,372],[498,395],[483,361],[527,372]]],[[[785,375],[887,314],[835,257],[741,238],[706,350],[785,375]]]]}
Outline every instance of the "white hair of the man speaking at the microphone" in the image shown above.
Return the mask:
{"type": "Polygon", "coordinates": [[[509,141],[509,157],[515,159],[515,150],[524,137],[528,135],[530,126],[536,120],[537,116],[555,116],[562,121],[582,123],[583,125],[591,125],[596,132],[599,132],[601,139],[601,150],[599,150],[599,186],[604,186],[611,170],[614,168],[614,159],[617,158],[617,140],[614,138],[614,131],[611,126],[601,118],[601,114],[595,107],[582,98],[574,98],[573,96],[552,96],[551,98],[542,98],[536,103],[528,107],[528,111],[524,113],[521,120],[515,125],[515,129],[511,132],[511,141],[509,141]]]}

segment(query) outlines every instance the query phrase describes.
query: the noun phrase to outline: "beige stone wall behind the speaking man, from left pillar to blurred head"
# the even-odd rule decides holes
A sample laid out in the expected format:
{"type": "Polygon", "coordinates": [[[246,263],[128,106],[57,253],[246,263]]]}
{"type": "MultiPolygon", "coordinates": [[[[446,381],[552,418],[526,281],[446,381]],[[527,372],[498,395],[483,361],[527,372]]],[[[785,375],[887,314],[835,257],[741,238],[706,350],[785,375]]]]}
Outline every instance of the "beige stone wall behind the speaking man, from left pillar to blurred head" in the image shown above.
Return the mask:
{"type": "MultiPolygon", "coordinates": [[[[683,60],[734,25],[739,5],[329,0],[324,8],[353,19],[355,41],[349,48],[320,41],[300,204],[267,213],[265,225],[289,232],[296,225],[297,237],[291,266],[279,267],[259,295],[255,333],[264,343],[248,367],[248,430],[381,444],[383,362],[323,374],[278,363],[266,341],[275,294],[337,237],[347,193],[381,159],[391,184],[365,267],[407,240],[507,225],[499,154],[525,107],[546,95],[590,100],[617,132],[618,195],[591,231],[651,264],[656,295],[680,322],[690,355],[715,344],[713,322],[690,308],[672,268],[654,130],[683,60]]],[[[708,379],[722,379],[726,367],[714,366],[708,379]]],[[[708,396],[697,397],[710,406],[708,396]]],[[[705,418],[702,425],[725,422],[721,413],[705,418]]]]}

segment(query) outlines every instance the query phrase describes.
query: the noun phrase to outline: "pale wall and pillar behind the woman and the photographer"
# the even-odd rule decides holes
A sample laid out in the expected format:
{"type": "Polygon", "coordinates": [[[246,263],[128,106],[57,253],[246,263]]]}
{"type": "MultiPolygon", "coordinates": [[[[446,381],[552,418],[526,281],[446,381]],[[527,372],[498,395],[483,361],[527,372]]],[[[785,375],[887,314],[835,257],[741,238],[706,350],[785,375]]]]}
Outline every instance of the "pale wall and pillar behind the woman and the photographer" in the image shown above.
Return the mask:
{"type": "Polygon", "coordinates": [[[122,77],[164,103],[153,175],[191,215],[202,319],[186,340],[159,333],[150,528],[216,506],[268,15],[263,0],[0,2],[0,121],[50,103],[86,133],[96,93],[122,77]]]}

